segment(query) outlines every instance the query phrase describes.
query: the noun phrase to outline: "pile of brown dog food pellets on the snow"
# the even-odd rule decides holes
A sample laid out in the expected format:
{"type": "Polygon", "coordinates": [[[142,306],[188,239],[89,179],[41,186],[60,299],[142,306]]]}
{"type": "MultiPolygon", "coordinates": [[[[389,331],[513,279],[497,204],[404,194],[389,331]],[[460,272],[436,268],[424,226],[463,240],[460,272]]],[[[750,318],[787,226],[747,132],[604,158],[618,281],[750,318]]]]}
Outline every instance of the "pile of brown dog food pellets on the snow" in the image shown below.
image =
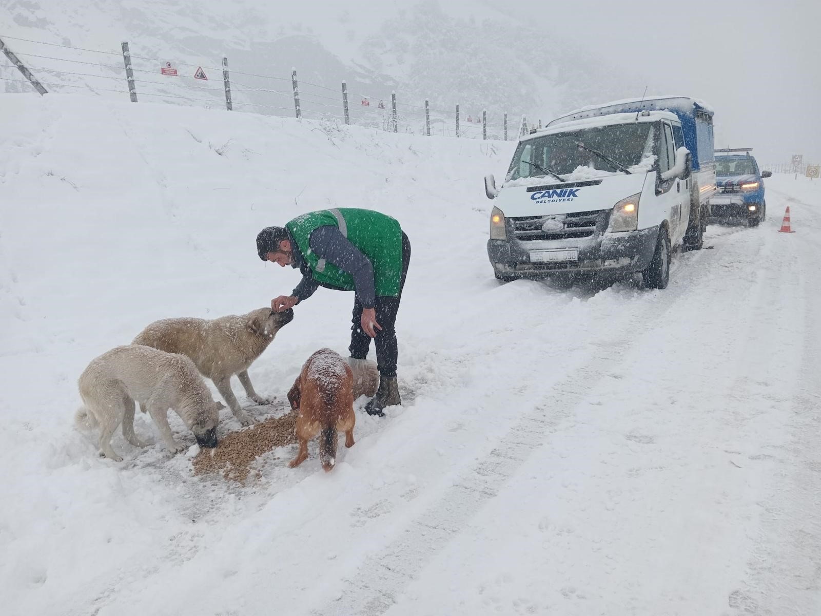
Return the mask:
{"type": "Polygon", "coordinates": [[[296,443],[295,425],[296,412],[291,411],[227,434],[219,440],[217,448],[203,448],[194,458],[195,475],[222,473],[225,479],[244,482],[257,457],[273,448],[296,443]]]}

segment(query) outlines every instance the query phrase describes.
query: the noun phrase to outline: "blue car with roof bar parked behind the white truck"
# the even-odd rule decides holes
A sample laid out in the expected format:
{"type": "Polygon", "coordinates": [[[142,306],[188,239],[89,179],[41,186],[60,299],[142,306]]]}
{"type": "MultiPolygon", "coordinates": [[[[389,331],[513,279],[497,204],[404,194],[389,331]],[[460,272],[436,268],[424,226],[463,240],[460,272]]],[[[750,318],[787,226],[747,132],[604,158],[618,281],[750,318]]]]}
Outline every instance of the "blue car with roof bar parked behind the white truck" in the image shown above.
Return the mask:
{"type": "Polygon", "coordinates": [[[759,171],[752,148],[717,149],[716,188],[710,199],[710,218],[722,221],[745,221],[756,227],[767,216],[764,200],[764,177],[772,172],[759,171]]]}

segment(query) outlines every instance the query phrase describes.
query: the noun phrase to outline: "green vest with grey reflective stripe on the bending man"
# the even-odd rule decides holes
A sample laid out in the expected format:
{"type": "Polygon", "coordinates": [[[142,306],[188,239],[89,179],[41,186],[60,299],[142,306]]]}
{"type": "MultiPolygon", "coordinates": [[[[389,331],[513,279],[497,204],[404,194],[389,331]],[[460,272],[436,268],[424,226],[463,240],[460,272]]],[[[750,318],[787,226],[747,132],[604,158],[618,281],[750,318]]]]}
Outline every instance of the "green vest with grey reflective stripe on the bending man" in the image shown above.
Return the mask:
{"type": "Polygon", "coordinates": [[[376,295],[398,297],[402,274],[402,230],[399,221],[372,209],[321,209],[297,216],[285,227],[310,266],[314,280],[343,291],[355,289],[354,278],[311,250],[310,234],[319,227],[339,228],[374,266],[376,295]]]}

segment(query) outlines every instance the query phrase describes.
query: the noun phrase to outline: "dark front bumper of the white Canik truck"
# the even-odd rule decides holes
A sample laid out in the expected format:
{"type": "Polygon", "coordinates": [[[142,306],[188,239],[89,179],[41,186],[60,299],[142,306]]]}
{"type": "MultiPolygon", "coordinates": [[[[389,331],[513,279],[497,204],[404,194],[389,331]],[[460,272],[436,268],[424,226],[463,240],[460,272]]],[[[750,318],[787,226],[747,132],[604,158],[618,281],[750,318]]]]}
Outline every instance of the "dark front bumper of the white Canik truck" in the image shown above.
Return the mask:
{"type": "Polygon", "coordinates": [[[530,278],[548,275],[633,274],[653,260],[658,227],[621,233],[603,233],[580,239],[554,241],[488,240],[488,257],[499,276],[530,278]],[[531,260],[534,251],[578,251],[577,260],[531,260]]]}

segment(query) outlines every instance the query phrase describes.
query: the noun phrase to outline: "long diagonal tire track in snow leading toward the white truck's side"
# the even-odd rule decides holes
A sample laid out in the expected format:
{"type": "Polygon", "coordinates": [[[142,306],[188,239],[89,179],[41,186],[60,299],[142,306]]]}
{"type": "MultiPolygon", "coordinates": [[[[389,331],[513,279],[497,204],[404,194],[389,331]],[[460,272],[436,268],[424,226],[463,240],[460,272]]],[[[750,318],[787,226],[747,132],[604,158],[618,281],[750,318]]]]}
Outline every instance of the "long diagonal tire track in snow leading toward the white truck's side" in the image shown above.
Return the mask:
{"type": "Polygon", "coordinates": [[[704,251],[688,253],[686,260],[680,257],[680,275],[674,287],[648,297],[647,306],[635,319],[628,319],[617,333],[595,342],[597,349],[589,361],[544,391],[539,404],[498,439],[488,457],[462,471],[432,507],[409,522],[391,543],[366,557],[353,575],[344,577],[347,590],[337,601],[312,613],[378,616],[397,603],[424,565],[496,497],[536,449],[548,443],[550,435],[571,418],[596,384],[613,376],[612,365],[617,365],[640,334],[651,331],[678,298],[689,292],[691,279],[702,273],[696,265],[705,258],[704,251]],[[650,301],[656,297],[658,301],[650,301]],[[636,323],[644,324],[638,333],[631,330],[636,323]]]}

